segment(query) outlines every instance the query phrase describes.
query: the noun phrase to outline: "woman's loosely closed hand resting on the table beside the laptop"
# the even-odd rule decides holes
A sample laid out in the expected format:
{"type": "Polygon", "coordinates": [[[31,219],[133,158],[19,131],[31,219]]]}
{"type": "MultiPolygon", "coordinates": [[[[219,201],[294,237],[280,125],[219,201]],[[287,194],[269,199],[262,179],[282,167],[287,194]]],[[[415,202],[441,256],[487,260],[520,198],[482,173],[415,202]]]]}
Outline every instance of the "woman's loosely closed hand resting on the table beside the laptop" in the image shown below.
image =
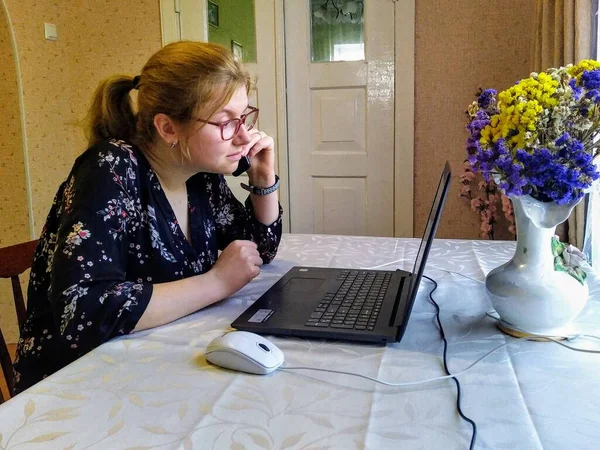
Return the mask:
{"type": "Polygon", "coordinates": [[[252,241],[233,241],[219,255],[210,270],[224,288],[224,298],[246,286],[260,273],[262,258],[252,241]]]}

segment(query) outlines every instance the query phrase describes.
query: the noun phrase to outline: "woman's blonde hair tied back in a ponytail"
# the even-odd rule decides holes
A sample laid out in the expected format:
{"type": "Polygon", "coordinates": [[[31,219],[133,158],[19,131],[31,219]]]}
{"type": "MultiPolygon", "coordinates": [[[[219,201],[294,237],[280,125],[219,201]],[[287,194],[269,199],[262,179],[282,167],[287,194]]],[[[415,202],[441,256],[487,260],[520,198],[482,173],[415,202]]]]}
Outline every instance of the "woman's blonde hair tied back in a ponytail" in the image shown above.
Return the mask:
{"type": "Polygon", "coordinates": [[[99,84],[87,115],[88,143],[116,138],[147,150],[156,140],[156,114],[192,126],[197,114],[208,119],[240,87],[249,92],[252,79],[226,48],[207,42],[168,44],[152,55],[135,82],[132,76],[114,75],[99,84]],[[135,88],[137,110],[130,96],[135,88]]]}

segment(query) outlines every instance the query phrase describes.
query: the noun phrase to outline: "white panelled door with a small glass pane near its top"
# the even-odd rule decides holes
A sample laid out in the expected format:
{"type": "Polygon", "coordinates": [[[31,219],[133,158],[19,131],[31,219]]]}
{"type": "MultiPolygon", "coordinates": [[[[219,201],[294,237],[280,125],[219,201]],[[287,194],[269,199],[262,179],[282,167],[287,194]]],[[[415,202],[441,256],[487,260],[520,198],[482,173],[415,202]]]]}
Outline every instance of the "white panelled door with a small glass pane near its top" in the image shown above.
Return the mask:
{"type": "Polygon", "coordinates": [[[291,231],[393,236],[394,2],[285,0],[285,42],[291,231]],[[362,60],[312,43],[361,13],[362,60]]]}

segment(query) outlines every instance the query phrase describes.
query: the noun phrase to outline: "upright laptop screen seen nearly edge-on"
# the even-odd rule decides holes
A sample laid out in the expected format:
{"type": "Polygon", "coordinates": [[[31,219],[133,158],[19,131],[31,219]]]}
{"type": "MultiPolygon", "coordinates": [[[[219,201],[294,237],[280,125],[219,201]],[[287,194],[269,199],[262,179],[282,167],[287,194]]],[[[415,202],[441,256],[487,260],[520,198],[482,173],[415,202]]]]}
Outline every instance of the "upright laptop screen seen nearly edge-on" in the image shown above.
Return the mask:
{"type": "Polygon", "coordinates": [[[408,301],[406,302],[404,308],[398,308],[396,318],[394,320],[394,324],[396,326],[403,325],[405,327],[406,323],[408,322],[412,305],[415,297],[417,296],[417,291],[419,290],[421,277],[423,276],[423,272],[425,270],[427,256],[429,255],[429,250],[431,249],[431,244],[433,243],[435,232],[442,215],[442,209],[444,208],[444,202],[446,201],[446,194],[448,193],[448,187],[450,186],[450,177],[450,164],[446,161],[444,171],[442,172],[440,182],[438,183],[438,187],[435,192],[433,204],[431,205],[429,219],[427,219],[427,224],[425,225],[423,239],[421,239],[419,251],[417,252],[417,257],[415,258],[415,265],[412,271],[413,276],[410,277],[408,301]]]}

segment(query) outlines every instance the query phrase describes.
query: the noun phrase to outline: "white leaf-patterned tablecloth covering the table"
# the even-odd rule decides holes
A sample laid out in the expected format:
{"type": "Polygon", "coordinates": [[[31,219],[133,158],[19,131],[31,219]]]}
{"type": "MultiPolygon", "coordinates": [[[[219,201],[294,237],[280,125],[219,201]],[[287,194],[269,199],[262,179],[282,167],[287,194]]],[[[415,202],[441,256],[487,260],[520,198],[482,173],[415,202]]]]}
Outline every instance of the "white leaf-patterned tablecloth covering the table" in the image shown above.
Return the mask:
{"type": "MultiPolygon", "coordinates": [[[[172,324],[108,342],[0,406],[0,449],[463,449],[471,428],[452,380],[393,388],[322,372],[246,375],[208,365],[204,349],[293,265],[412,269],[416,239],[285,235],[276,260],[234,297],[172,324]]],[[[484,275],[513,242],[436,240],[426,274],[458,372],[506,342],[486,311],[484,275]],[[471,280],[456,273],[461,272],[471,280]]],[[[591,274],[580,332],[600,335],[591,274]]],[[[294,366],[402,382],[443,375],[442,344],[421,284],[401,343],[270,339],[294,366]]],[[[600,348],[599,342],[575,341],[600,348]]],[[[596,449],[600,355],[518,341],[460,377],[479,449],[596,449]]]]}

